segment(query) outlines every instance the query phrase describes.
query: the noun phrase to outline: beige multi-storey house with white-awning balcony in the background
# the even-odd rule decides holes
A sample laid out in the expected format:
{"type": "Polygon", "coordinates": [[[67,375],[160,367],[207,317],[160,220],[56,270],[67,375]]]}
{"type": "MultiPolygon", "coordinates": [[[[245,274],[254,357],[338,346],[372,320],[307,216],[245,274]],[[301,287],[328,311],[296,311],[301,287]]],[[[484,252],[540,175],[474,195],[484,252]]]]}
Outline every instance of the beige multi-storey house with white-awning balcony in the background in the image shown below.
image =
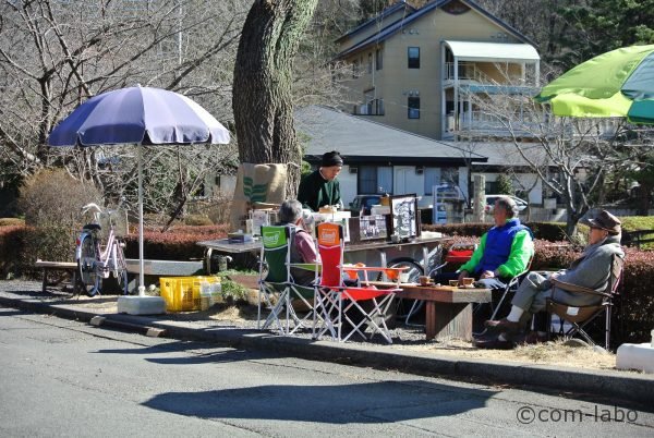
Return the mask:
{"type": "Polygon", "coordinates": [[[337,42],[352,66],[343,109],[431,138],[492,127],[472,95],[533,94],[538,84],[533,42],[470,0],[398,2],[337,42]]]}

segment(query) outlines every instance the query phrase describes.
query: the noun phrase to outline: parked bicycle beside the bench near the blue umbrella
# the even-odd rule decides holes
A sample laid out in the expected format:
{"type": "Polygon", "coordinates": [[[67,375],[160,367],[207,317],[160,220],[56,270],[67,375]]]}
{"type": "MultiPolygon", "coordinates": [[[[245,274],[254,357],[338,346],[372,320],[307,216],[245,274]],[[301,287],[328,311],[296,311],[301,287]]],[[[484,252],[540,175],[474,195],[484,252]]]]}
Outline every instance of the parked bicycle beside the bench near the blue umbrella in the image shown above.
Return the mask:
{"type": "Polygon", "coordinates": [[[102,210],[97,204],[82,207],[82,215],[93,214],[92,223],[82,227],[75,248],[75,259],[80,272],[78,285],[88,296],[100,293],[100,281],[111,275],[123,294],[128,294],[128,264],[122,239],[116,234],[113,216],[117,210],[102,210]],[[109,233],[104,240],[100,220],[107,218],[109,233]]]}

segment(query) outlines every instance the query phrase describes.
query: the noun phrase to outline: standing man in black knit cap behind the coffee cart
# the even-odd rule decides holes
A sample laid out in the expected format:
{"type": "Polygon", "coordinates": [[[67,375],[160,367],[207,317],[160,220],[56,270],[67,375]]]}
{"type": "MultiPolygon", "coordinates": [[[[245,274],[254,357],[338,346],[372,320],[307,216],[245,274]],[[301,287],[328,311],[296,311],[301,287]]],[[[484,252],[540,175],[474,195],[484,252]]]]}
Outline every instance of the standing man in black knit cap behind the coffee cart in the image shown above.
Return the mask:
{"type": "Polygon", "coordinates": [[[300,182],[298,200],[312,211],[326,205],[340,204],[340,184],[336,177],[343,167],[343,159],[336,150],[323,155],[318,170],[310,173],[300,182]]]}

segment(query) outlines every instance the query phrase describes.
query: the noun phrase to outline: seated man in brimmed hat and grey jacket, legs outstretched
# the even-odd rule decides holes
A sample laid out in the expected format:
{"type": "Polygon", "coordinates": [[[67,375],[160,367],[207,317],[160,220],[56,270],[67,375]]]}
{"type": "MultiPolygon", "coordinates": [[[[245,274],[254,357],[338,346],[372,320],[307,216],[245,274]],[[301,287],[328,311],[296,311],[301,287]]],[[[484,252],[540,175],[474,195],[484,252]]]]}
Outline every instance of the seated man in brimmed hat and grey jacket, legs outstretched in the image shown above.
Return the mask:
{"type": "MultiPolygon", "coordinates": [[[[504,319],[487,320],[485,323],[488,329],[496,330],[500,334],[497,339],[476,341],[476,346],[485,349],[513,348],[510,338],[511,334],[520,330],[520,321],[528,319],[523,318],[523,314],[533,315],[545,309],[546,299],[549,296],[570,306],[590,306],[602,302],[602,295],[566,291],[557,288],[552,281],[556,279],[564,283],[603,292],[610,278],[613,257],[625,257],[625,252],[620,246],[621,222],[618,218],[603,210],[594,219],[588,219],[583,222],[591,228],[591,231],[589,244],[581,256],[572,261],[568,269],[548,276],[530,272],[511,301],[512,307],[509,315],[504,319]]],[[[537,334],[542,339],[545,331],[540,331],[537,334]]]]}

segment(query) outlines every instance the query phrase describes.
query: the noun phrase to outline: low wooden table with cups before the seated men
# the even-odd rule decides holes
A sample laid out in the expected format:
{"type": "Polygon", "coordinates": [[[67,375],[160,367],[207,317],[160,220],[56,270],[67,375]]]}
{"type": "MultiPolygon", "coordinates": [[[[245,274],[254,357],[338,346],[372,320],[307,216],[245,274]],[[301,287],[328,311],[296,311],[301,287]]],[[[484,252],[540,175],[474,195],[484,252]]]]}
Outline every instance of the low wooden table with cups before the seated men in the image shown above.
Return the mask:
{"type": "Polygon", "coordinates": [[[367,284],[380,288],[398,287],[402,291],[397,297],[422,300],[425,302],[426,338],[460,338],[472,340],[472,304],[489,303],[491,289],[453,288],[451,285],[420,285],[370,281],[367,284]]]}

